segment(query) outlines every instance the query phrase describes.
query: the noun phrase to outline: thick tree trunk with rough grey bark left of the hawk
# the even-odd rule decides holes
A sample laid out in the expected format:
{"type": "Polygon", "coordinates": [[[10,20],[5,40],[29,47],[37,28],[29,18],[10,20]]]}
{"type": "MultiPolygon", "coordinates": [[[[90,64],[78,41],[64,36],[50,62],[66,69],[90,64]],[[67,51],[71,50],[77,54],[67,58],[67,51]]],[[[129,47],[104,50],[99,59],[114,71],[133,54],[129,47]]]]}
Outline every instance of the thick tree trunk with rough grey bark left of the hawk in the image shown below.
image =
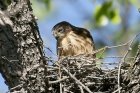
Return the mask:
{"type": "Polygon", "coordinates": [[[1,0],[0,8],[0,73],[5,84],[11,93],[47,93],[47,61],[29,0],[1,0]]]}

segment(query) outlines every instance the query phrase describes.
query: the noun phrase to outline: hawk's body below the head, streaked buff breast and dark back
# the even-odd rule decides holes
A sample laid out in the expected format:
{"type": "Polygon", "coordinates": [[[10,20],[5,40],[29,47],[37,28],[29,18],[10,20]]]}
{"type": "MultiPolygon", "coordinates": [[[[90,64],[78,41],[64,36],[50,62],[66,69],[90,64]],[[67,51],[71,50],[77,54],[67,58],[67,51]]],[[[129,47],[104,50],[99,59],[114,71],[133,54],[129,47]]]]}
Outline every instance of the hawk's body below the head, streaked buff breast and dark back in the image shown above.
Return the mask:
{"type": "MultiPolygon", "coordinates": [[[[57,42],[59,56],[88,54],[95,50],[94,42],[89,31],[84,28],[72,28],[67,35],[57,42]]],[[[95,58],[95,55],[91,55],[95,58]]]]}

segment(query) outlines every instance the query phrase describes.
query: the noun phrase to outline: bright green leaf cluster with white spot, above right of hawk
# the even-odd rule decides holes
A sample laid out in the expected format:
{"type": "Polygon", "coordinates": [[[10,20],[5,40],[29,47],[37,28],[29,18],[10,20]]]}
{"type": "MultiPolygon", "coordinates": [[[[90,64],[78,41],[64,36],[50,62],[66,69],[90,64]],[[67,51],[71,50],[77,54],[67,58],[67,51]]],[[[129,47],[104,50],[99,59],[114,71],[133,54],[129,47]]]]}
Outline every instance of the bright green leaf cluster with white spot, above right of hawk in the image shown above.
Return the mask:
{"type": "Polygon", "coordinates": [[[113,8],[113,1],[99,4],[94,12],[94,18],[98,26],[106,26],[108,20],[112,23],[120,23],[121,18],[119,15],[119,8],[113,8]]]}

